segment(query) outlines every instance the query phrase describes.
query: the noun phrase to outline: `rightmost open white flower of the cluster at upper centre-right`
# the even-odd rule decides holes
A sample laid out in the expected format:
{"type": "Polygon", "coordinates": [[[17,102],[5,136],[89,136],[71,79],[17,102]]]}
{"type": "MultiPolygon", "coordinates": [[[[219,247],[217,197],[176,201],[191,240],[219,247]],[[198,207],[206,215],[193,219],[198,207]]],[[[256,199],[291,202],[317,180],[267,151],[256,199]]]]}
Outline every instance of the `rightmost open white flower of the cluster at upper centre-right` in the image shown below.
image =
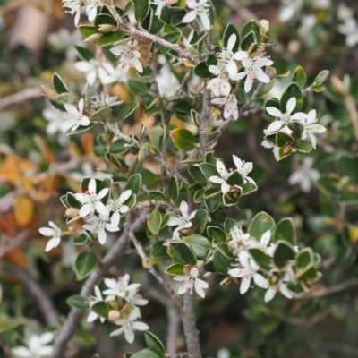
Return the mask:
{"type": "Polygon", "coordinates": [[[269,66],[273,64],[271,60],[266,57],[256,57],[256,58],[243,58],[243,72],[237,74],[238,80],[243,80],[246,77],[244,90],[246,93],[250,92],[252,88],[253,81],[255,79],[259,80],[262,83],[268,83],[270,81],[268,75],[263,72],[262,67],[269,66]]]}

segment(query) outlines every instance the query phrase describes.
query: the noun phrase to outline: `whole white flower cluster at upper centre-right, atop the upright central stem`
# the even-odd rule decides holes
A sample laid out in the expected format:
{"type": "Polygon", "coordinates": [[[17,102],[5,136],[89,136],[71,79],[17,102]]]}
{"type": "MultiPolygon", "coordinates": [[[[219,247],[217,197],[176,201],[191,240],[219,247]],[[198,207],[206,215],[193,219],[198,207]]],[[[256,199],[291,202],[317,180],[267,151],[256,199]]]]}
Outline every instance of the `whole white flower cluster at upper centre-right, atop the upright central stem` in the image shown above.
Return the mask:
{"type": "Polygon", "coordinates": [[[211,103],[219,107],[224,107],[224,118],[236,120],[239,117],[237,109],[237,99],[234,94],[232,84],[245,79],[244,90],[250,92],[253,81],[258,80],[262,83],[270,81],[268,75],[263,71],[263,67],[273,64],[264,55],[263,48],[259,47],[259,55],[249,54],[246,51],[234,52],[237,36],[232,34],[227,41],[227,47],[217,54],[217,64],[209,65],[209,72],[216,77],[208,83],[208,89],[215,97],[211,103]]]}

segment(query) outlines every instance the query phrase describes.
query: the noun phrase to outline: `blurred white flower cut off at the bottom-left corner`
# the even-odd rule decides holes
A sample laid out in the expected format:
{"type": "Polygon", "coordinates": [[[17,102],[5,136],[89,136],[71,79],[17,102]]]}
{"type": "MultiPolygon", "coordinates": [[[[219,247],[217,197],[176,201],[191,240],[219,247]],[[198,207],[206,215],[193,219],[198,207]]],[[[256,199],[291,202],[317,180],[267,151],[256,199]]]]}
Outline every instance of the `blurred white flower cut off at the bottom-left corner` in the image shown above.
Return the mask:
{"type": "Polygon", "coordinates": [[[14,358],[40,358],[51,354],[53,347],[48,345],[54,339],[53,333],[47,332],[41,336],[33,335],[28,346],[18,346],[11,349],[14,358]]]}

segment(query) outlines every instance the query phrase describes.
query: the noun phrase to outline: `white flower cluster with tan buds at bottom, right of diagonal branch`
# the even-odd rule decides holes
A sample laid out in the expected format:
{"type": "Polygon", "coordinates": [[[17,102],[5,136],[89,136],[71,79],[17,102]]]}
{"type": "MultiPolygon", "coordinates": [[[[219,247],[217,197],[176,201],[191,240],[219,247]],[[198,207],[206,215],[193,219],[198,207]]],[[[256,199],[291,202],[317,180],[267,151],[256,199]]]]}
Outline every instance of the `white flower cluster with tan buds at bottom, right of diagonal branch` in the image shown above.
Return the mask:
{"type": "Polygon", "coordinates": [[[141,298],[138,294],[140,284],[130,284],[130,277],[125,274],[124,277],[118,277],[117,280],[105,278],[104,284],[107,287],[102,293],[98,286],[95,286],[96,296],[90,297],[90,314],[87,318],[89,322],[98,318],[103,323],[105,319],[112,321],[120,328],[115,329],[110,336],[118,336],[124,333],[128,343],[133,343],[134,332],[136,330],[147,330],[149,326],[146,323],[139,322],[141,310],[139,306],[148,303],[148,300],[141,298]],[[96,303],[105,303],[107,307],[107,317],[98,314],[96,303]]]}

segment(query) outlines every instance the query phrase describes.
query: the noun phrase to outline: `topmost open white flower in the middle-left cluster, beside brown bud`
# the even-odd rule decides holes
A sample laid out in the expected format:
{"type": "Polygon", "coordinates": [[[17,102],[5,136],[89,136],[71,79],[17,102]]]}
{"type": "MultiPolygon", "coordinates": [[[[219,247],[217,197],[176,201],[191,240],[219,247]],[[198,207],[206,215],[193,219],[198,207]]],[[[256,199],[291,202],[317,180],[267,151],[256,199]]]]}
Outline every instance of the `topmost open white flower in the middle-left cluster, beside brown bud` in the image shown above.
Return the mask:
{"type": "Polygon", "coordinates": [[[109,189],[104,188],[97,194],[96,187],[96,180],[91,178],[87,192],[74,194],[75,198],[82,204],[79,213],[80,217],[91,217],[94,215],[95,211],[104,216],[108,214],[108,210],[101,199],[107,195],[109,189]]]}

